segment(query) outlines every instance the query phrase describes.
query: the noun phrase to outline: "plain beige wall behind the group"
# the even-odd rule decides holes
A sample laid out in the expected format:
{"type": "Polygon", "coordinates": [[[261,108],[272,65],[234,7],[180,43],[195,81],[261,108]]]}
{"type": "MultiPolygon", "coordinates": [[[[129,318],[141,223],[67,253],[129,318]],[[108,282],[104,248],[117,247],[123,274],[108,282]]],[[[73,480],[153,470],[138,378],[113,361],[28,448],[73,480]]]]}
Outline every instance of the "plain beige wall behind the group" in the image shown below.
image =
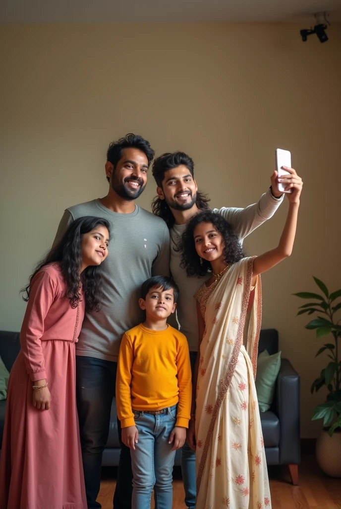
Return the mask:
{"type": "MultiPolygon", "coordinates": [[[[246,206],[269,186],[274,150],[304,179],[292,257],[263,276],[263,327],[280,332],[301,375],[302,436],[316,436],[310,385],[326,358],[297,317],[312,275],[341,287],[340,24],[302,43],[299,25],[2,26],[0,329],[18,330],[18,296],[65,207],[103,196],[106,148],[137,132],[156,153],[184,150],[212,205],[246,206]]],[[[149,184],[139,204],[149,208],[149,184]]],[[[246,242],[275,246],[287,206],[246,242]]],[[[128,268],[127,268],[128,270],[128,268]]]]}

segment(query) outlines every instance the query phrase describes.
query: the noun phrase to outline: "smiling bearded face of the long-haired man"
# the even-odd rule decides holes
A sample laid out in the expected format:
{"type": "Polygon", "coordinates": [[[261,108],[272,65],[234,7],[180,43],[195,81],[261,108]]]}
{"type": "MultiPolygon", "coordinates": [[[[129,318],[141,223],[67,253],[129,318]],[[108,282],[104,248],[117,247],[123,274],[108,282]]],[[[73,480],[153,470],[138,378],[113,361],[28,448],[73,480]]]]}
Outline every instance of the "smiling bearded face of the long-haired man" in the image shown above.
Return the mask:
{"type": "Polygon", "coordinates": [[[198,186],[184,164],[168,169],[164,173],[162,187],[156,192],[168,207],[174,210],[188,210],[195,205],[198,186]]]}

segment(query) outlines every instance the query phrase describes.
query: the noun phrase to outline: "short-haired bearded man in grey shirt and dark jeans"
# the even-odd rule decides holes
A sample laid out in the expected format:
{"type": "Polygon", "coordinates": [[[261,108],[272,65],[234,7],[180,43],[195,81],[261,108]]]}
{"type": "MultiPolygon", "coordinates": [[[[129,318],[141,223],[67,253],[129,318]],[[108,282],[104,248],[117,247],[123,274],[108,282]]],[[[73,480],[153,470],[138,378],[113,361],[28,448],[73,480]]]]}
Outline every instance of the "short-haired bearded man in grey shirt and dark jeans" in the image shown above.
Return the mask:
{"type": "MultiPolygon", "coordinates": [[[[134,203],[146,186],[153,157],[154,151],[141,136],[128,134],[110,144],[107,196],[66,209],[54,241],[56,244],[69,224],[81,216],[104,217],[111,224],[101,309],[85,316],[76,345],[77,408],[88,507],[100,507],[96,498],[122,335],[143,321],[139,306],[142,283],[152,275],[169,274],[166,223],[134,203]]],[[[118,428],[120,436],[119,421],[118,428]]],[[[121,443],[115,509],[130,509],[131,494],[130,449],[121,443]]]]}

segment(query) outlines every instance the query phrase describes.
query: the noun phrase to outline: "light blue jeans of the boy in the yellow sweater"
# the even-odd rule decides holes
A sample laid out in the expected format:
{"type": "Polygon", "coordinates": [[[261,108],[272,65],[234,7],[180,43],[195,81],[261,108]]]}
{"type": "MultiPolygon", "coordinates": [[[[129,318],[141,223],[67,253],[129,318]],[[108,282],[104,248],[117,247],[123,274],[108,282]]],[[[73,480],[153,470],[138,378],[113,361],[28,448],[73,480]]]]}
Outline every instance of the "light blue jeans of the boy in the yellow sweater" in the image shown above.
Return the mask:
{"type": "Polygon", "coordinates": [[[150,509],[154,488],[155,508],[172,509],[176,451],[171,450],[174,444],[168,442],[175,427],[177,406],[165,408],[159,415],[134,410],[133,413],[139,439],[135,450],[130,450],[133,472],[131,507],[150,509]]]}

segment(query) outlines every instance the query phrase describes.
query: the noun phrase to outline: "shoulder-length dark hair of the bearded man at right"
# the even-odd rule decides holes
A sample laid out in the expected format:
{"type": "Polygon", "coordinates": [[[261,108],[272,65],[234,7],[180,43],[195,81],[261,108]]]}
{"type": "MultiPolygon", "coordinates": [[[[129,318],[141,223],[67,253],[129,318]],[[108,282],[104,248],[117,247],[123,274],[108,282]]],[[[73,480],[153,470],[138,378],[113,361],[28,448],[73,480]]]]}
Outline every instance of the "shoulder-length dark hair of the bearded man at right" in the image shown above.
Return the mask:
{"type": "MultiPolygon", "coordinates": [[[[152,174],[155,179],[156,185],[162,188],[162,182],[164,179],[165,172],[168,169],[173,169],[183,164],[188,168],[189,173],[194,178],[194,161],[185,152],[166,152],[161,156],[157,157],[153,162],[152,174]]],[[[196,192],[195,205],[199,210],[207,210],[209,208],[208,203],[210,199],[207,194],[201,191],[196,192]]],[[[158,196],[155,196],[152,201],[152,212],[156,216],[161,217],[168,228],[172,228],[175,222],[174,215],[166,204],[165,200],[160,200],[158,196]]]]}

